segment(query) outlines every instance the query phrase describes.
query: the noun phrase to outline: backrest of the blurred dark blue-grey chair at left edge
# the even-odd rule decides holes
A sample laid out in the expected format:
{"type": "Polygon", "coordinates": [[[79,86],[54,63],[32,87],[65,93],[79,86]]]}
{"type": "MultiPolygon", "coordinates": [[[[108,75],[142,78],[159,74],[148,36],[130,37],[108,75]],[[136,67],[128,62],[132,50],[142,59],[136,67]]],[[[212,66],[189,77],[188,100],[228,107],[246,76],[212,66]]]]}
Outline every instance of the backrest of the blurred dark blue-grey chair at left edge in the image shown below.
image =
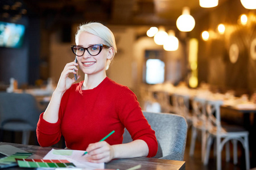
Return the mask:
{"type": "Polygon", "coordinates": [[[0,92],[1,127],[3,124],[11,121],[23,122],[36,129],[39,113],[40,110],[34,96],[30,94],[0,92]]]}

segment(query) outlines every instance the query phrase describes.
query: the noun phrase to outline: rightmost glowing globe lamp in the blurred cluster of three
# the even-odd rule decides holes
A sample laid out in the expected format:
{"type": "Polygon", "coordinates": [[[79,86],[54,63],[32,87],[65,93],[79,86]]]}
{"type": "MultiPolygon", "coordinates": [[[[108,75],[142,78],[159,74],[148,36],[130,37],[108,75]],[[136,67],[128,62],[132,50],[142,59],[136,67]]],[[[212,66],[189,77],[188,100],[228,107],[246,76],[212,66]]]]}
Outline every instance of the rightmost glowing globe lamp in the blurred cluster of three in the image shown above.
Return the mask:
{"type": "Polygon", "coordinates": [[[168,38],[163,44],[163,48],[166,51],[176,51],[179,48],[179,40],[175,37],[174,30],[168,31],[168,38]]]}

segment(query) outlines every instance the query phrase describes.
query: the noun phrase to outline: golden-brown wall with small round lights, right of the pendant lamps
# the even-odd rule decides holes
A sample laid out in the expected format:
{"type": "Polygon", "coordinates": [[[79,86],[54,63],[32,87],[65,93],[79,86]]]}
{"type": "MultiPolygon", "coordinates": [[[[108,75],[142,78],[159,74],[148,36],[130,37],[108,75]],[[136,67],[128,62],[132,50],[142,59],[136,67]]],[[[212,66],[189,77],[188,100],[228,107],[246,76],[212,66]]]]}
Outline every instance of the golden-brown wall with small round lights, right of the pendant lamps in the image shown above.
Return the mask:
{"type": "Polygon", "coordinates": [[[251,42],[256,39],[256,10],[246,10],[238,0],[227,1],[197,18],[196,24],[200,25],[195,34],[199,39],[199,82],[207,82],[220,92],[236,90],[237,95],[256,90],[256,60],[250,55],[251,42]],[[245,26],[238,24],[241,14],[248,17],[245,26]],[[216,30],[220,23],[226,26],[224,35],[216,30]],[[205,30],[210,31],[208,41],[201,39],[205,30]],[[236,63],[229,58],[232,44],[239,48],[236,63]]]}

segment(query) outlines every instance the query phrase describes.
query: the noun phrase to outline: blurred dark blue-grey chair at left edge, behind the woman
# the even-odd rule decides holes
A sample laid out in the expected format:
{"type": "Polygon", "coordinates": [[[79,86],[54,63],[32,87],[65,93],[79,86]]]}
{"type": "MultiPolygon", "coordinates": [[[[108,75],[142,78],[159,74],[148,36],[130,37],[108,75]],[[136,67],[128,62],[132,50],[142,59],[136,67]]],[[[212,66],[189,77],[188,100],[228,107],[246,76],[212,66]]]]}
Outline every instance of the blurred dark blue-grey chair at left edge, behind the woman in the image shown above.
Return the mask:
{"type": "Polygon", "coordinates": [[[36,130],[39,113],[34,96],[0,92],[0,128],[22,131],[23,144],[28,144],[30,132],[36,130]]]}

